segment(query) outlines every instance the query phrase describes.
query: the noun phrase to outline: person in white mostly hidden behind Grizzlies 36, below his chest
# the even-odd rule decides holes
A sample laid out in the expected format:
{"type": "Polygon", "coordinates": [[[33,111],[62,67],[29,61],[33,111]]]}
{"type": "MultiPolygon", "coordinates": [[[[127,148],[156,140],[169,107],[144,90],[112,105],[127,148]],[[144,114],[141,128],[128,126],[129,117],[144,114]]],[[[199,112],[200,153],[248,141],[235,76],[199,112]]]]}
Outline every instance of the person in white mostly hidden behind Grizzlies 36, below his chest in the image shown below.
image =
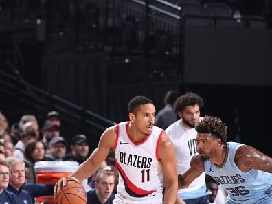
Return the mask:
{"type": "Polygon", "coordinates": [[[226,201],[226,194],[223,188],[220,188],[220,183],[216,182],[214,178],[206,174],[205,181],[207,189],[212,192],[209,194],[209,203],[221,204],[226,201]]]}

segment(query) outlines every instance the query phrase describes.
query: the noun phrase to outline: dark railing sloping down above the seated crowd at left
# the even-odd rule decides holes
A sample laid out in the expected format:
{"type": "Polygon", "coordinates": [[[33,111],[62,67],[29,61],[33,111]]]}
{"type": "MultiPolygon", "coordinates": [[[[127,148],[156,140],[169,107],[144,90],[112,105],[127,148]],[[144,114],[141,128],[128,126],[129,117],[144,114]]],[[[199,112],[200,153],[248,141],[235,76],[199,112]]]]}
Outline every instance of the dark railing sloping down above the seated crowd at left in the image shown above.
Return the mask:
{"type": "Polygon", "coordinates": [[[0,91],[19,104],[16,106],[18,113],[22,111],[21,104],[36,109],[43,115],[48,111],[56,110],[62,116],[63,121],[75,126],[81,133],[92,133],[100,136],[100,133],[108,126],[115,124],[115,122],[93,113],[93,111],[84,110],[81,106],[34,87],[25,80],[4,71],[0,71],[0,91]]]}

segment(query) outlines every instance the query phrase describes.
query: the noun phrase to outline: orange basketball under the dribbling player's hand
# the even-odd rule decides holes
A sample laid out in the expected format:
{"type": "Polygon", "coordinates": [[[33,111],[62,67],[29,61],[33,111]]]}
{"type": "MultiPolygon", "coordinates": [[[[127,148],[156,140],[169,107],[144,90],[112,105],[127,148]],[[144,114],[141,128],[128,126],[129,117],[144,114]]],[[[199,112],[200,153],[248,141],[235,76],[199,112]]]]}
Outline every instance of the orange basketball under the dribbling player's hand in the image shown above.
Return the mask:
{"type": "Polygon", "coordinates": [[[87,192],[84,187],[73,180],[67,180],[65,187],[54,196],[56,204],[86,204],[87,192]]]}

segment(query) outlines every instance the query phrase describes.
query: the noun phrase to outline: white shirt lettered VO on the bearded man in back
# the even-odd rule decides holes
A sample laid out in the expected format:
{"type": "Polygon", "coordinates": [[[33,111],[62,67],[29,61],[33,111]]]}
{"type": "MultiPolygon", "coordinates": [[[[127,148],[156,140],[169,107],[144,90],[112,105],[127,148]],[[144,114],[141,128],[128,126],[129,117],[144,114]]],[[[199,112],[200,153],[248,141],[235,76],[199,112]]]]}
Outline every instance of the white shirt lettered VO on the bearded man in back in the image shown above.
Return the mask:
{"type": "MultiPolygon", "coordinates": [[[[182,126],[181,120],[174,122],[166,128],[166,135],[174,144],[174,151],[177,158],[177,172],[183,174],[190,167],[192,156],[196,153],[196,135],[194,128],[186,129],[182,126]]],[[[179,189],[179,193],[199,190],[205,186],[205,173],[192,181],[188,188],[179,189]]]]}

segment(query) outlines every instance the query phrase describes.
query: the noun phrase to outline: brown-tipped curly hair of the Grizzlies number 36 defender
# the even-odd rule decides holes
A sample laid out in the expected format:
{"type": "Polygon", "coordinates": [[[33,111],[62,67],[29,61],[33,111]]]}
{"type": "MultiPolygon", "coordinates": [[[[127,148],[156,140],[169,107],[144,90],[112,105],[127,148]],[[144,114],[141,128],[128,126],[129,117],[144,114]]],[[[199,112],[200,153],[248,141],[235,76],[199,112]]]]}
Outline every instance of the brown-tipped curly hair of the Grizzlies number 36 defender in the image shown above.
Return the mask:
{"type": "Polygon", "coordinates": [[[197,133],[211,133],[220,138],[223,144],[227,144],[227,126],[218,117],[206,115],[195,126],[197,133]]]}

